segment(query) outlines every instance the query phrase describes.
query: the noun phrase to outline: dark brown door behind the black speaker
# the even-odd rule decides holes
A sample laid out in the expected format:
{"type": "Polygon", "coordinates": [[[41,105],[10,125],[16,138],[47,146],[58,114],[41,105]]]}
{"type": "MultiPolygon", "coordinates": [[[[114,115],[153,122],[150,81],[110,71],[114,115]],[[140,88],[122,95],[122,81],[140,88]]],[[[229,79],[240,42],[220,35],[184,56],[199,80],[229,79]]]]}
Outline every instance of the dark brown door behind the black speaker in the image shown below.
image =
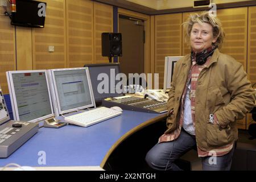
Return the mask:
{"type": "Polygon", "coordinates": [[[122,34],[121,72],[144,73],[144,20],[119,15],[119,32],[122,34]]]}

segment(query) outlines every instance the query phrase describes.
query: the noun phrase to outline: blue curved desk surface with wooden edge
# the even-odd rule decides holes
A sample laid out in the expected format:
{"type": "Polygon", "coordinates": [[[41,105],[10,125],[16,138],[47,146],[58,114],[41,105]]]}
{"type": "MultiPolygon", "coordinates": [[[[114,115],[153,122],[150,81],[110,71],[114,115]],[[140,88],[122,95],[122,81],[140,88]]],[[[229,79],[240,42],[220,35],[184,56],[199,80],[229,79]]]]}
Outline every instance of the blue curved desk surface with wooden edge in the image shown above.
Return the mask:
{"type": "Polygon", "coordinates": [[[32,167],[103,167],[114,148],[125,138],[164,117],[166,114],[124,110],[118,117],[89,127],[43,127],[9,158],[0,159],[0,166],[16,163],[32,167]],[[40,151],[46,152],[45,165],[38,163],[40,151]]]}

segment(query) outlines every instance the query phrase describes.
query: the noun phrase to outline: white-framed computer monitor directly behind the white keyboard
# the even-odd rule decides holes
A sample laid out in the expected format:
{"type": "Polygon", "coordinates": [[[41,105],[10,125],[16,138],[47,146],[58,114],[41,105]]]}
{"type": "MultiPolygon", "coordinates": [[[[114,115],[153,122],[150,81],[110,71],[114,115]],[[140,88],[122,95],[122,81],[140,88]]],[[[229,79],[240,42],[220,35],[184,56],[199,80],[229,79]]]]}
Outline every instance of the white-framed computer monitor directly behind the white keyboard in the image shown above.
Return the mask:
{"type": "Polygon", "coordinates": [[[55,116],[96,107],[88,68],[63,68],[47,71],[55,116]]]}

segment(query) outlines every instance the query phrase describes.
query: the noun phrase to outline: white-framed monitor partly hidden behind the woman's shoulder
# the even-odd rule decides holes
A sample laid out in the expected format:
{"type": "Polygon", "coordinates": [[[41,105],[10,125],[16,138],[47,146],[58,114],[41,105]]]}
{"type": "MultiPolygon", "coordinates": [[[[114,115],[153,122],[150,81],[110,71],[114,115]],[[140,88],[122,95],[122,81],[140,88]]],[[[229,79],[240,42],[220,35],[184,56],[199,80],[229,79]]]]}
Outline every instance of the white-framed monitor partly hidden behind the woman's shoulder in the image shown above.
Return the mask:
{"type": "Polygon", "coordinates": [[[174,67],[176,62],[183,56],[166,56],[164,61],[164,85],[163,90],[171,88],[172,75],[174,74],[174,67]]]}

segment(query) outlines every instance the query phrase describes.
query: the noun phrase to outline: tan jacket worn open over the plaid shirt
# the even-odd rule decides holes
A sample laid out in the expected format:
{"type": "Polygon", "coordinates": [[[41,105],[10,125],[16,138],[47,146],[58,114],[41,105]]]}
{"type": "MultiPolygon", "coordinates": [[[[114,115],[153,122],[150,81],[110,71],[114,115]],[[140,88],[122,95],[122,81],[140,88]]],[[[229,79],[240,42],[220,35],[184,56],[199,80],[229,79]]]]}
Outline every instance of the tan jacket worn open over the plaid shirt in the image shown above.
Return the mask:
{"type": "MultiPolygon", "coordinates": [[[[165,133],[179,126],[181,97],[191,68],[191,56],[182,57],[175,65],[169,92],[165,133]],[[170,110],[174,109],[172,114],[170,110]]],[[[255,91],[247,80],[243,66],[233,57],[216,49],[197,80],[195,127],[196,142],[202,150],[230,144],[238,139],[237,119],[253,109],[255,91]],[[219,125],[209,123],[209,114],[217,116],[219,125]]]]}

